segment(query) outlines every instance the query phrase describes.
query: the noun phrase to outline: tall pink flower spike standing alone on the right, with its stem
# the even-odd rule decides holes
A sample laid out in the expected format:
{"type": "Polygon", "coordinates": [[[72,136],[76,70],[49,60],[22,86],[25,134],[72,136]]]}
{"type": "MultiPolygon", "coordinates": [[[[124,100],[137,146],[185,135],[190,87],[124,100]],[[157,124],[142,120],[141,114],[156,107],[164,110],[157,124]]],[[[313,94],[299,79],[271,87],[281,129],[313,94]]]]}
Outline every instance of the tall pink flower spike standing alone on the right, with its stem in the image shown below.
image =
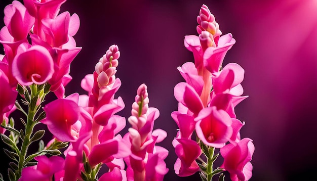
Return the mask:
{"type": "Polygon", "coordinates": [[[211,180],[223,170],[232,180],[248,180],[252,176],[250,160],[254,152],[251,139],[240,138],[245,124],[236,119],[234,107],[247,98],[242,96],[244,69],[223,59],[235,40],[230,33],[222,35],[215,17],[206,5],[197,17],[196,35],[185,36],[185,47],[193,53],[194,63],[178,67],[186,82],[178,83],[174,96],[179,102],[172,117],[179,127],[173,141],[178,159],[175,173],[188,176],[201,170],[203,180],[211,180]],[[192,140],[195,132],[196,140],[192,140]],[[228,143],[226,145],[226,143],[228,143]],[[224,163],[212,170],[214,149],[220,148],[224,163]],[[205,154],[207,163],[200,157],[205,154]],[[196,160],[200,160],[197,162],[196,160]]]}

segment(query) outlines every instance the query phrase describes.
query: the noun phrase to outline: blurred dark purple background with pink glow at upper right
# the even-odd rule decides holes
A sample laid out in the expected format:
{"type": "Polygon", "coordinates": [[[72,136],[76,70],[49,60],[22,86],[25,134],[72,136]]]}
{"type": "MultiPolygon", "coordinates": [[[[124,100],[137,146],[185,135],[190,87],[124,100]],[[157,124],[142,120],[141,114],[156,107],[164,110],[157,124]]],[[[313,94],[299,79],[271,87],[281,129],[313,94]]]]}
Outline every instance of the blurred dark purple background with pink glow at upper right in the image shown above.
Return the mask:
{"type": "MultiPolygon", "coordinates": [[[[1,27],[3,9],[10,3],[0,0],[1,27]]],[[[251,180],[317,180],[316,0],[68,0],[61,12],[80,17],[74,38],[83,50],[71,65],[73,80],[66,95],[85,94],[81,79],[117,44],[121,58],[116,76],[123,84],[116,97],[126,104],[118,114],[130,116],[136,89],[146,83],[149,105],[161,112],[154,127],[168,132],[161,144],[170,150],[165,180],[199,180],[197,174],[182,178],[174,173],[177,126],[170,114],[177,110],[173,88],[183,81],[177,67],[193,61],[183,46],[184,36],[197,34],[196,17],[203,4],[223,34],[231,32],[236,39],[224,65],[236,62],[246,72],[242,85],[250,97],[236,107],[236,114],[246,122],[242,137],[255,145],[251,180]]],[[[1,172],[6,174],[1,153],[1,172]]]]}

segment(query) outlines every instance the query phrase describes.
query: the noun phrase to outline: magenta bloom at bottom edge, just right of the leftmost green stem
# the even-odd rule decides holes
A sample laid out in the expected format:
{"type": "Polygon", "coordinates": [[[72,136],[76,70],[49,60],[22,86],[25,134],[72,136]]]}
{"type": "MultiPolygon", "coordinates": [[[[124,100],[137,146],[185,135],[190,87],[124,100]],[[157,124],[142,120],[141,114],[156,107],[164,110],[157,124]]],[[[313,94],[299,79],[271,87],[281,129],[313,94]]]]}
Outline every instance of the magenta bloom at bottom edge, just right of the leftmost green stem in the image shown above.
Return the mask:
{"type": "Polygon", "coordinates": [[[51,181],[54,173],[64,169],[64,159],[59,156],[37,156],[35,160],[36,166],[22,169],[19,181],[51,181]]]}

